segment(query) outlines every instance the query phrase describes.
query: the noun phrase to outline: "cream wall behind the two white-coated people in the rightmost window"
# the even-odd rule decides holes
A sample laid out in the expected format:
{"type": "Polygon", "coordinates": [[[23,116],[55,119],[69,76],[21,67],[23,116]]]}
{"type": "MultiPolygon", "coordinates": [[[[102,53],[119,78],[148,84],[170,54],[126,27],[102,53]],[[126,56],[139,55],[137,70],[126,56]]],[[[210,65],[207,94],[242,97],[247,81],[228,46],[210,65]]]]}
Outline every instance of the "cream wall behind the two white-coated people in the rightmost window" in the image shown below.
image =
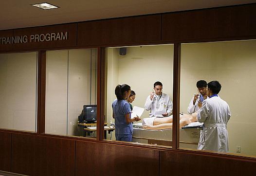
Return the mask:
{"type": "Polygon", "coordinates": [[[196,82],[218,80],[219,96],[231,109],[228,123],[229,148],[236,153],[256,155],[256,41],[183,44],[181,50],[181,111],[194,93],[196,82]]]}

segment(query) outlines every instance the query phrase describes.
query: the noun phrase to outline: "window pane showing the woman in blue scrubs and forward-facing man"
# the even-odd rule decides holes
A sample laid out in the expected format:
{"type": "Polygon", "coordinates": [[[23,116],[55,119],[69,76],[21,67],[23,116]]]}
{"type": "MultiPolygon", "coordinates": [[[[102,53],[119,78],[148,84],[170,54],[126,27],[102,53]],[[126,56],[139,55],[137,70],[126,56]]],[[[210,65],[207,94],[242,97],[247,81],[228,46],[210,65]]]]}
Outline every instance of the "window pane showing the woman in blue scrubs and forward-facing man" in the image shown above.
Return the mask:
{"type": "MultiPolygon", "coordinates": [[[[115,130],[108,134],[107,139],[117,140],[116,137],[131,134],[131,127],[127,127],[127,125],[132,125],[132,142],[171,146],[172,116],[169,115],[172,113],[173,45],[107,48],[106,56],[106,123],[115,125],[115,130]],[[154,83],[157,81],[161,82],[163,86],[157,85],[154,89],[154,83]],[[128,99],[130,107],[133,108],[131,119],[138,115],[142,119],[141,121],[125,124],[124,116],[120,117],[118,122],[112,118],[111,105],[116,99],[115,88],[122,84],[129,85],[135,92],[133,96],[135,99],[132,97],[128,99]],[[152,100],[150,99],[151,93],[152,100]],[[145,108],[145,104],[145,110],[137,110],[145,108]],[[162,114],[165,114],[166,111],[168,112],[166,118],[150,117],[163,117],[162,114]],[[168,123],[167,126],[156,125],[163,123],[163,119],[165,119],[165,123],[168,123]],[[144,122],[147,124],[147,129],[143,128],[144,122]]],[[[117,108],[120,106],[116,105],[117,108]]],[[[117,113],[116,116],[119,114],[117,113]]]]}

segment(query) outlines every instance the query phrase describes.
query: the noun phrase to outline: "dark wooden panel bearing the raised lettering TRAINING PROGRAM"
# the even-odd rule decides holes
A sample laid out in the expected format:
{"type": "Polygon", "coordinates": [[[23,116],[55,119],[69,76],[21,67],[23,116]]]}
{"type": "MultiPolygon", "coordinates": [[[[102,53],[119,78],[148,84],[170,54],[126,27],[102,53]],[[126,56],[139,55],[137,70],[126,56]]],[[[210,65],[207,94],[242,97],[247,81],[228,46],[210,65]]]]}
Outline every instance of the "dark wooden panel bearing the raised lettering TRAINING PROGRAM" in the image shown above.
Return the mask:
{"type": "MultiPolygon", "coordinates": [[[[50,26],[14,29],[12,38],[1,39],[0,46],[12,42],[13,50],[57,49],[75,47],[77,24],[59,24],[50,26]]],[[[9,36],[9,35],[1,35],[9,36]]]]}

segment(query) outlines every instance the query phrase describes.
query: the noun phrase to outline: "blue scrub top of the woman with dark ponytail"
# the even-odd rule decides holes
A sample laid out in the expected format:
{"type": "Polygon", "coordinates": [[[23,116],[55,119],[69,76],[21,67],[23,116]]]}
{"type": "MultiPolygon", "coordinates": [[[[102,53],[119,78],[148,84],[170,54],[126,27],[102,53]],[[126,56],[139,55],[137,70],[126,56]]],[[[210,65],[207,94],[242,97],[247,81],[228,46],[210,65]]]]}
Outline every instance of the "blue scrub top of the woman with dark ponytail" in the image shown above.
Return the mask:
{"type": "Polygon", "coordinates": [[[131,114],[130,105],[125,100],[114,100],[112,109],[115,117],[115,133],[132,134],[132,123],[127,124],[125,114],[131,114]]]}

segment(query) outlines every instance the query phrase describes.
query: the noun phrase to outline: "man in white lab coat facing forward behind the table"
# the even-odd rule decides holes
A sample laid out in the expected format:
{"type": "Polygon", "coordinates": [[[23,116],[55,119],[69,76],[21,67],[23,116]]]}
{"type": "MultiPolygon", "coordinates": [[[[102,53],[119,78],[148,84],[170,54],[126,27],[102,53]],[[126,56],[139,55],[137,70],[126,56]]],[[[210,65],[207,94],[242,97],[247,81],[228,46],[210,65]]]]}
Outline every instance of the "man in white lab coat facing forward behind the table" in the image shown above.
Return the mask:
{"type": "Polygon", "coordinates": [[[146,99],[145,109],[150,110],[149,117],[166,117],[172,114],[170,96],[163,93],[163,84],[159,81],[154,84],[154,91],[146,99]]]}

